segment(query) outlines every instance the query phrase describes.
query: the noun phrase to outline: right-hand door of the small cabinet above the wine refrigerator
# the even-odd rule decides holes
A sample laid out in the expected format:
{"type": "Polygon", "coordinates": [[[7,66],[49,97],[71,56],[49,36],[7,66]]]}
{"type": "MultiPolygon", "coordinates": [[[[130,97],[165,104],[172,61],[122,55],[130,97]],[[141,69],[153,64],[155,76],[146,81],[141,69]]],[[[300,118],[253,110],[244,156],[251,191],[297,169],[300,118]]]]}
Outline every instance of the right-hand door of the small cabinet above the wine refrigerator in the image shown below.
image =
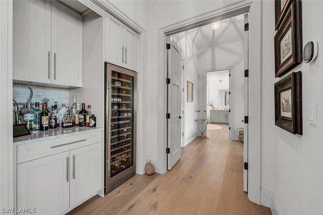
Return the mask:
{"type": "Polygon", "coordinates": [[[125,46],[125,67],[131,70],[137,69],[137,33],[125,26],[124,29],[125,46]]]}

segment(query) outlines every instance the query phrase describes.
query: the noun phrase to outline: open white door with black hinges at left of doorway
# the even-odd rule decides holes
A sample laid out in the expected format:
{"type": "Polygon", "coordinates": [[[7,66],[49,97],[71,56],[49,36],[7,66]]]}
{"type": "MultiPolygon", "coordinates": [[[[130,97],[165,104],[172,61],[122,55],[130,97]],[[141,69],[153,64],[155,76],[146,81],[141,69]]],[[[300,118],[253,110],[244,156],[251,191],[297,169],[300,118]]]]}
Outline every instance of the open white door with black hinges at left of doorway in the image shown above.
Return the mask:
{"type": "MultiPolygon", "coordinates": [[[[181,49],[172,39],[167,37],[168,49],[168,78],[167,84],[167,113],[170,119],[167,120],[167,145],[169,153],[167,167],[171,170],[181,158],[181,112],[182,112],[182,70],[181,70],[181,49]]],[[[167,46],[167,45],[166,45],[167,46]]]]}

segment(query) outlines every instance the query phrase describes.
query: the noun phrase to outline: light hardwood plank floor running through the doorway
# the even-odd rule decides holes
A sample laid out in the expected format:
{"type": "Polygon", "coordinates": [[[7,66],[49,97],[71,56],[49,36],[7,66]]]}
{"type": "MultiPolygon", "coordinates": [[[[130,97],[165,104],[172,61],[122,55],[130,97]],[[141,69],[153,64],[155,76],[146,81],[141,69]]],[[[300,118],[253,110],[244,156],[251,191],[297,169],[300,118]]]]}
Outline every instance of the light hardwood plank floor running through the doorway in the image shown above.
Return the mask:
{"type": "Polygon", "coordinates": [[[271,214],[243,192],[243,146],[220,126],[207,131],[209,140],[196,138],[182,148],[166,174],[136,175],[68,214],[271,214]]]}

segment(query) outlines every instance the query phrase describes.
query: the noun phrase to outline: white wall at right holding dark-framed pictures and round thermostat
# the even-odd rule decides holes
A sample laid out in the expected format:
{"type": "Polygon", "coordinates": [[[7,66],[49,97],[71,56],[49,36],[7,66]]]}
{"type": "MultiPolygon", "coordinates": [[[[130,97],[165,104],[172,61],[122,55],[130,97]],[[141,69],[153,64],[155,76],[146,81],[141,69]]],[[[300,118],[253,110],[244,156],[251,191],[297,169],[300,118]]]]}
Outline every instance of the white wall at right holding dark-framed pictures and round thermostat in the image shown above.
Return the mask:
{"type": "MultiPolygon", "coordinates": [[[[273,190],[280,214],[323,214],[323,51],[291,71],[302,71],[303,135],[275,126],[274,83],[286,75],[275,78],[274,1],[263,1],[262,8],[261,187],[273,190]],[[309,124],[310,103],[317,104],[317,126],[309,124]]],[[[322,8],[322,1],[302,1],[303,45],[310,40],[322,45],[323,30],[317,27],[322,8]]]]}

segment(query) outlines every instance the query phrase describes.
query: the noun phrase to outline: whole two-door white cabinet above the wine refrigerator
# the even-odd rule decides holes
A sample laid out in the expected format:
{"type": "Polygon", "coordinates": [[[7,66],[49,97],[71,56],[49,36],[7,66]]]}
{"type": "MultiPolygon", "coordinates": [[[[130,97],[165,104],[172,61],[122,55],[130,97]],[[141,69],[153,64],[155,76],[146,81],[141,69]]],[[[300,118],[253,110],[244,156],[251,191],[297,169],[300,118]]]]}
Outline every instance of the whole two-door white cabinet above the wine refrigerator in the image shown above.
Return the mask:
{"type": "Polygon", "coordinates": [[[105,13],[105,61],[137,70],[137,33],[105,13]]]}

